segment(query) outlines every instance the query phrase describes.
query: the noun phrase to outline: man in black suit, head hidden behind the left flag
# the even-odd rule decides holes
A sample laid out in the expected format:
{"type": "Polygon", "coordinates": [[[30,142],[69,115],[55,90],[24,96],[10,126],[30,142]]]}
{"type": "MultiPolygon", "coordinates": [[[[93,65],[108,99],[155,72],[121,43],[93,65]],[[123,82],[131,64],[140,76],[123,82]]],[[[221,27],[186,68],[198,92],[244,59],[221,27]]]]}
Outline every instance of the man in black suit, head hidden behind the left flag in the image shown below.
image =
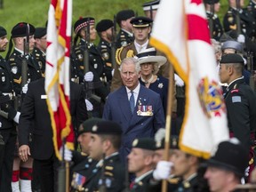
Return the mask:
{"type": "MultiPolygon", "coordinates": [[[[19,153],[22,161],[27,161],[31,154],[34,158],[34,167],[39,172],[42,191],[53,192],[57,186],[59,161],[53,149],[52,124],[46,99],[44,79],[28,84],[28,92],[20,114],[19,153]],[[28,146],[29,132],[32,132],[32,143],[28,146]]],[[[70,106],[75,128],[76,124],[79,126],[87,119],[82,85],[70,82],[70,106]]]]}

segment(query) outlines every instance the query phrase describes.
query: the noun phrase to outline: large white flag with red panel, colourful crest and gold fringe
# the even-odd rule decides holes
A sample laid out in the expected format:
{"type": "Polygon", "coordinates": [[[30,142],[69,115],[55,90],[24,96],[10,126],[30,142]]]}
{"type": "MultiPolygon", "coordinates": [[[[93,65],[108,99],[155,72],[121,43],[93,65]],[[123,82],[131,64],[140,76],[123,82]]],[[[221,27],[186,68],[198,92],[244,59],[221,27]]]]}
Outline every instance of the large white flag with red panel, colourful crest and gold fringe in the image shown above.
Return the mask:
{"type": "Polygon", "coordinates": [[[161,0],[150,44],[166,54],[186,84],[180,149],[209,158],[228,140],[228,121],[202,0],[161,0]]]}

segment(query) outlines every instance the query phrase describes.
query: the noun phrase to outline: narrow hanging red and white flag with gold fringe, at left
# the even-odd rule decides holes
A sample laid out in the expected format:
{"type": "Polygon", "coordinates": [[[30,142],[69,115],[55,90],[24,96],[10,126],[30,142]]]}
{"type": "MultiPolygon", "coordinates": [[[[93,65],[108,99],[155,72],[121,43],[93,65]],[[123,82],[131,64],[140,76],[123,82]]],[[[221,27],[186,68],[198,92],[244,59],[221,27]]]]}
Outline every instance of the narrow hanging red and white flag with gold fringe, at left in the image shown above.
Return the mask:
{"type": "Polygon", "coordinates": [[[52,0],[48,12],[45,92],[52,121],[53,145],[56,156],[66,139],[74,148],[74,132],[70,116],[69,53],[72,25],[72,0],[52,0]]]}

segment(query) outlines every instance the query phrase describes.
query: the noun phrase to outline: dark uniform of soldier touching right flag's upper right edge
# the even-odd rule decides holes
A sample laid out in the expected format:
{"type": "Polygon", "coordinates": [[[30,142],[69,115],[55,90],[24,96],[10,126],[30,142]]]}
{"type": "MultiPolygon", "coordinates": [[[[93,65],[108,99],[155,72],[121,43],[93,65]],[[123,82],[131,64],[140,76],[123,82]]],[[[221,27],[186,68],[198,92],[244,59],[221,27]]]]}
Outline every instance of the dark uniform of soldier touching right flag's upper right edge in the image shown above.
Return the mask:
{"type": "Polygon", "coordinates": [[[213,14],[211,12],[206,12],[208,23],[212,18],[212,38],[216,41],[220,41],[220,36],[223,34],[223,28],[220,24],[220,19],[217,14],[213,14]]]}

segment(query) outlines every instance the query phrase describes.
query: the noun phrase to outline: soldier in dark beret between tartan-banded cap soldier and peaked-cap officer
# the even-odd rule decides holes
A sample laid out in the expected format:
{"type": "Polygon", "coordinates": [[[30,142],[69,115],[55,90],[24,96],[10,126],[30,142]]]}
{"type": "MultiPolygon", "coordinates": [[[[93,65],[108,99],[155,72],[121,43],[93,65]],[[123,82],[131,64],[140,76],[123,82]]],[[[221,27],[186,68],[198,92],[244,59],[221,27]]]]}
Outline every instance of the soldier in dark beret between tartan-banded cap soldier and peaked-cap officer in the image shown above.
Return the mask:
{"type": "Polygon", "coordinates": [[[114,23],[112,20],[100,20],[96,25],[96,30],[100,36],[100,43],[98,44],[98,50],[101,53],[101,57],[106,62],[106,76],[108,83],[112,80],[112,58],[111,55],[111,44],[113,40],[113,27],[114,23]]]}

